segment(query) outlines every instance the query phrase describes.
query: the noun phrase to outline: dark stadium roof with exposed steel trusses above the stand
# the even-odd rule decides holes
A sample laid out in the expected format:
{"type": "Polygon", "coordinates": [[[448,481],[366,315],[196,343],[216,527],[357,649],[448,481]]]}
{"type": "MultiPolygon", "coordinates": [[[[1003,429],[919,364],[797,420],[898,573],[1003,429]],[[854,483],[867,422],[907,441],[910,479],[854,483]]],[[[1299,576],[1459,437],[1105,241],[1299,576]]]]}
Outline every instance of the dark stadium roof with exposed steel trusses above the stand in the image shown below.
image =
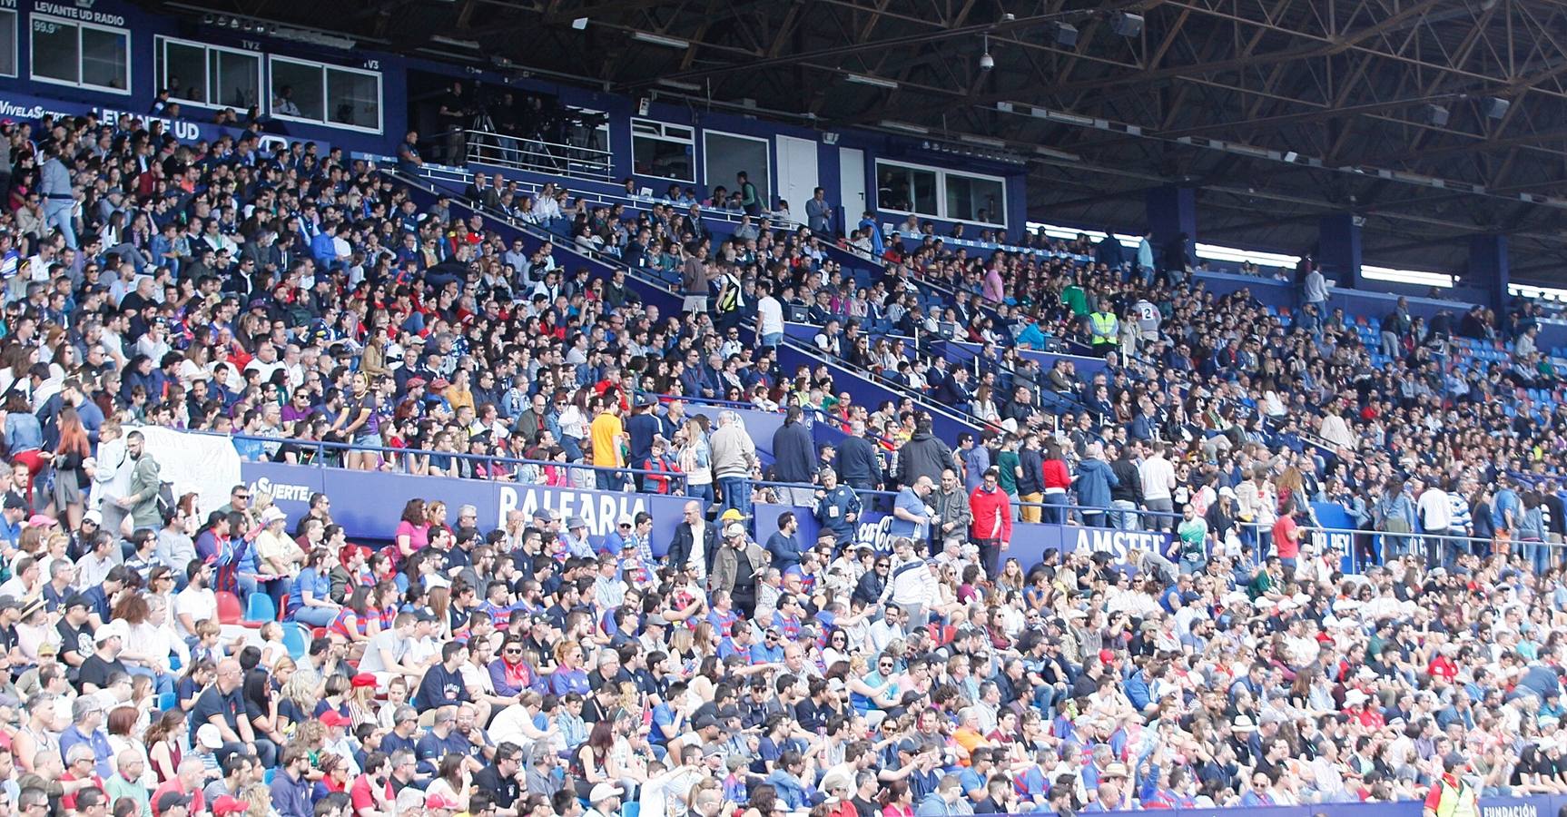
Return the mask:
{"type": "Polygon", "coordinates": [[[1567,279],[1561,0],[202,5],[821,130],[1001,140],[1036,220],[1136,227],[1147,188],[1183,183],[1210,241],[1302,251],[1352,210],[1373,262],[1462,270],[1468,235],[1506,232],[1515,276],[1567,279]]]}

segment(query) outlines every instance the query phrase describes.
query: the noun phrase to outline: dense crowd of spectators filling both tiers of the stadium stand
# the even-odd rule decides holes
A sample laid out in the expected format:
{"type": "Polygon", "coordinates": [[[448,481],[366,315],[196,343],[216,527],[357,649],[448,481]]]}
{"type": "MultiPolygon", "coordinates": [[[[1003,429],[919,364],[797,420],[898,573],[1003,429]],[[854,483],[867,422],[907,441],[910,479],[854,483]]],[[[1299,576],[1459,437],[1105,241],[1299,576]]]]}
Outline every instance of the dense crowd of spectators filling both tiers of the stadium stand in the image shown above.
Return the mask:
{"type": "Polygon", "coordinates": [[[1518,372],[1449,347],[1468,317],[1396,310],[1373,367],[1344,315],[1216,298],[1178,251],[972,257],[749,215],[713,235],[696,202],[476,179],[476,204],[570,224],[533,246],[337,151],[128,116],[6,129],[0,812],[1448,817],[1453,787],[1567,792],[1567,414],[1507,417],[1518,372]],[[834,241],[878,254],[873,281],[834,241]],[[683,309],[578,251],[669,273],[683,309]],[[787,314],[821,326],[821,364],[779,370],[787,314]],[[943,323],[986,362],[914,343],[943,323]],[[1108,369],[1019,354],[1048,342],[1108,369]],[[859,405],[826,361],[906,397],[859,405]],[[710,427],[682,397],[785,412],[774,463],[738,412],[710,427]],[[939,439],[937,403],[975,431],[939,439]],[[810,422],[848,439],[820,448],[810,422]],[[165,496],[143,425],[689,502],[669,543],[638,514],[595,547],[581,519],[492,530],[431,488],[367,547],[329,496],[295,519],[246,485],[221,508],[165,496]],[[874,489],[896,492],[888,552],[848,527],[874,489]],[[757,499],[824,535],[780,517],[755,541],[757,499]],[[1365,532],[1355,572],[1307,535],[1313,502],[1365,532]],[[1174,538],[1020,563],[1034,521],[1174,538]],[[280,621],[219,626],[219,599],[262,593],[280,621]]]}

